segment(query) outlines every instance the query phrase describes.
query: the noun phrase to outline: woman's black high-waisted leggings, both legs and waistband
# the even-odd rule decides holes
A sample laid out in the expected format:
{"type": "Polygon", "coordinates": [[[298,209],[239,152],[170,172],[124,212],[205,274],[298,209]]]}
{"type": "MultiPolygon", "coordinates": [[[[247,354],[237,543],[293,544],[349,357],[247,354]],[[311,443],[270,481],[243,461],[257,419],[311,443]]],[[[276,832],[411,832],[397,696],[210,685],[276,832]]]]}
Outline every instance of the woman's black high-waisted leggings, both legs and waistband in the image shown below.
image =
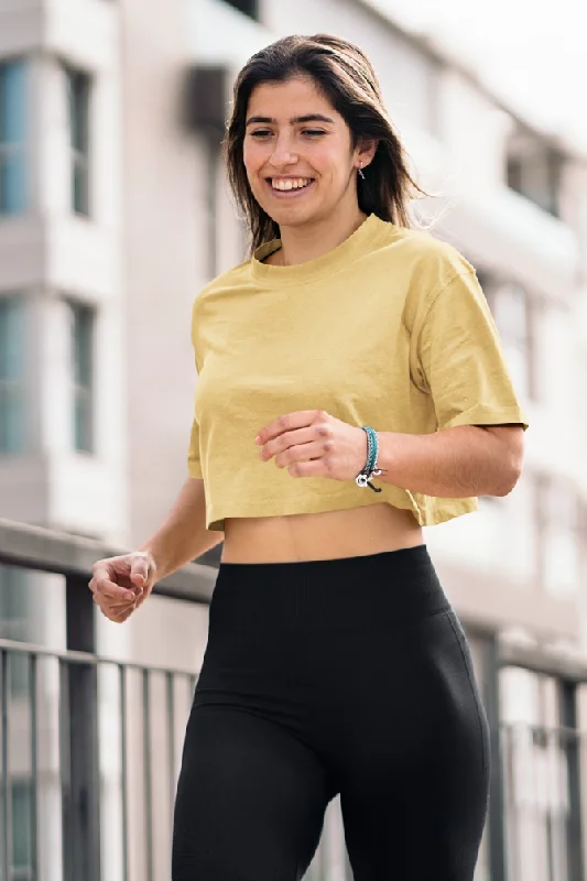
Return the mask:
{"type": "Polygon", "coordinates": [[[472,881],[489,731],[425,545],[221,563],[173,881],[298,881],[338,793],[355,881],[472,881]]]}

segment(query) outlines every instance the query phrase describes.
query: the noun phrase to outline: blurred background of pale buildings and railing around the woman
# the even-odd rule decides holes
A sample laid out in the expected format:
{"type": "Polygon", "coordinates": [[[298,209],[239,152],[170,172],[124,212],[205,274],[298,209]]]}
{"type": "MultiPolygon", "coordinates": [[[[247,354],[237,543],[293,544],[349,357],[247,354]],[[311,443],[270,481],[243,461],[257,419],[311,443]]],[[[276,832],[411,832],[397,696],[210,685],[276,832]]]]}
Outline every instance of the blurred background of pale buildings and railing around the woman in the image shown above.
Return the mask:
{"type": "MultiPolygon", "coordinates": [[[[572,0],[0,0],[1,881],[170,878],[220,548],[123,627],[87,583],[187,475],[192,304],[246,257],[220,157],[233,77],[318,31],[370,56],[531,424],[513,493],[426,531],[491,725],[476,881],[583,881],[586,19],[572,0]]],[[[351,878],[334,802],[306,881],[351,878]]]]}

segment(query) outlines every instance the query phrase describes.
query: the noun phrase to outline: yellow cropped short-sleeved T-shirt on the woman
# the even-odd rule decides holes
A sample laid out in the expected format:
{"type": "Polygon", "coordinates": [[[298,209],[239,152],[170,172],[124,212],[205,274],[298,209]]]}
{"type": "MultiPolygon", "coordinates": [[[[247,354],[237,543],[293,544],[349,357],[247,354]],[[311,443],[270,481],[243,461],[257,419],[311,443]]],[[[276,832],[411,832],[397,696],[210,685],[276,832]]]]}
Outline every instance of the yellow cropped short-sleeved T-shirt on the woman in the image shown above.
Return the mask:
{"type": "Polygon", "coordinates": [[[254,438],[278,416],[323,409],[377,432],[454,425],[528,427],[472,267],[427,232],[370,215],[334,250],[305,263],[254,255],[196,297],[198,382],[188,471],[203,478],[206,526],[388,503],[432,525],[474,511],[377,480],[293,478],[261,461],[254,438]]]}

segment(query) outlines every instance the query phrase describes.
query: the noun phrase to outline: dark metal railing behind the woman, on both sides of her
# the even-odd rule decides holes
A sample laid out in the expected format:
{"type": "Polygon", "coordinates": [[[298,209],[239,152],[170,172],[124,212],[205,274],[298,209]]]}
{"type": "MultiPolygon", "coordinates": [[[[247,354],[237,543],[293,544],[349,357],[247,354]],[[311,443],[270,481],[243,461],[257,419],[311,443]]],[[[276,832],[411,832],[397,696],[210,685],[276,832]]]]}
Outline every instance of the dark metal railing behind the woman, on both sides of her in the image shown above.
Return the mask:
{"type": "MultiPolygon", "coordinates": [[[[99,542],[0,520],[0,565],[63,575],[66,614],[63,650],[0,640],[0,881],[170,877],[175,785],[197,672],[98,655],[87,584],[93,563],[115,553],[99,542]]],[[[154,592],[207,603],[216,574],[214,566],[191,564],[154,592]]],[[[577,689],[587,670],[500,645],[491,633],[477,637],[485,646],[492,759],[487,860],[478,877],[583,881],[577,689]],[[556,679],[561,728],[500,722],[504,666],[556,679]],[[537,842],[533,852],[526,840],[537,842]]],[[[333,868],[328,835],[325,828],[305,881],[350,881],[340,853],[333,868]]]]}

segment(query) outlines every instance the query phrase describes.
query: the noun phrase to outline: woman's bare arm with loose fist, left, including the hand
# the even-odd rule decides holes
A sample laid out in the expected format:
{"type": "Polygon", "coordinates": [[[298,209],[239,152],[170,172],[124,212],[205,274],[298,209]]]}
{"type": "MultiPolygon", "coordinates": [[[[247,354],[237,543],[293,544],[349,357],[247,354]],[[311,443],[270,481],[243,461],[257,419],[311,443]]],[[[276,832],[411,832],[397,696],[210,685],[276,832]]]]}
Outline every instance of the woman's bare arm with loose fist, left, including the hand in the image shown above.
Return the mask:
{"type": "Polygon", "coordinates": [[[89,588],[111,621],[122,623],[151,594],[155,581],[181,569],[224,540],[206,529],[204,480],[188,477],[170,513],[137,551],[94,564],[89,588]]]}

